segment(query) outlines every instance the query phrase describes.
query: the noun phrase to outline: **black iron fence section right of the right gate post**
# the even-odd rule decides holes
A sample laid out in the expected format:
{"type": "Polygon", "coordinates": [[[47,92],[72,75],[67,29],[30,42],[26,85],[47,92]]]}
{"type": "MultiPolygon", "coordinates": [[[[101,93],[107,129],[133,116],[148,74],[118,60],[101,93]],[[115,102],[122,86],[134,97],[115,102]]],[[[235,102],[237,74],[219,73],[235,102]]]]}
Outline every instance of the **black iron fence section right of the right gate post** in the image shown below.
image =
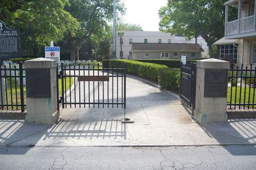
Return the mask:
{"type": "Polygon", "coordinates": [[[254,109],[256,107],[255,98],[256,67],[252,65],[245,69],[229,69],[227,109],[254,109]]]}

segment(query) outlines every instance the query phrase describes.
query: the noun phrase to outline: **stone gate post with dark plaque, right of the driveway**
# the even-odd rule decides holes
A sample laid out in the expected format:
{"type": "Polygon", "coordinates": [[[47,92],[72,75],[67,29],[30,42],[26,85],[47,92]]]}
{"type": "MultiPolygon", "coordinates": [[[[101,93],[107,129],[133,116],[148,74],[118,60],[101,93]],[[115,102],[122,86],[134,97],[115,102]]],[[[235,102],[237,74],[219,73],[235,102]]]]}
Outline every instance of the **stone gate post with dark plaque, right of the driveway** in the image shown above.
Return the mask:
{"type": "Polygon", "coordinates": [[[227,121],[229,62],[218,59],[197,61],[196,108],[199,124],[227,121]]]}

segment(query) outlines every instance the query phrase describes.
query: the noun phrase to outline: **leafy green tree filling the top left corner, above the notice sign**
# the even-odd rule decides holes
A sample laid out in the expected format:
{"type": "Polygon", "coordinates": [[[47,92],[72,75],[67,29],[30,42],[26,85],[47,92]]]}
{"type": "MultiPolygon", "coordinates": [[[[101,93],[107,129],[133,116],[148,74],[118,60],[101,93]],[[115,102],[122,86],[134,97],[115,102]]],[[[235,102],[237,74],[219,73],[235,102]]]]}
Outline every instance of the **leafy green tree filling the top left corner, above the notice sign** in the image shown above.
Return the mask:
{"type": "Polygon", "coordinates": [[[10,28],[20,29],[23,51],[37,56],[50,41],[57,42],[67,30],[76,28],[78,22],[63,8],[67,0],[6,1],[0,6],[0,16],[10,28]]]}

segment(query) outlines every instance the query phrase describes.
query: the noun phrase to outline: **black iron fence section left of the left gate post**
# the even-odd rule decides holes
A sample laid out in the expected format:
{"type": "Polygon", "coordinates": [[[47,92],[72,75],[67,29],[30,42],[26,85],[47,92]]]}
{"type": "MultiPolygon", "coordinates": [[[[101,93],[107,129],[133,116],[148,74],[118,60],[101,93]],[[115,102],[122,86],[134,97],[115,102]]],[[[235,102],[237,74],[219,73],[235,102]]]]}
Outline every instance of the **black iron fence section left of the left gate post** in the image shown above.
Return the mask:
{"type": "Polygon", "coordinates": [[[25,111],[26,99],[25,68],[18,65],[5,64],[0,68],[0,106],[1,110],[25,111]]]}

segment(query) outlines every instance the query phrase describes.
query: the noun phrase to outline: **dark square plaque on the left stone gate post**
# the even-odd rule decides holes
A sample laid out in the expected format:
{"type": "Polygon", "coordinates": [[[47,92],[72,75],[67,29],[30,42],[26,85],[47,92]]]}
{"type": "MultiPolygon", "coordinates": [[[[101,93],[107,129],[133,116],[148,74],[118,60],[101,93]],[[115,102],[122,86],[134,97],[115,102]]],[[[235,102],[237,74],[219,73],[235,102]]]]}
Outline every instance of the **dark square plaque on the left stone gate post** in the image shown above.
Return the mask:
{"type": "Polygon", "coordinates": [[[50,69],[26,69],[28,98],[50,98],[50,69]]]}

